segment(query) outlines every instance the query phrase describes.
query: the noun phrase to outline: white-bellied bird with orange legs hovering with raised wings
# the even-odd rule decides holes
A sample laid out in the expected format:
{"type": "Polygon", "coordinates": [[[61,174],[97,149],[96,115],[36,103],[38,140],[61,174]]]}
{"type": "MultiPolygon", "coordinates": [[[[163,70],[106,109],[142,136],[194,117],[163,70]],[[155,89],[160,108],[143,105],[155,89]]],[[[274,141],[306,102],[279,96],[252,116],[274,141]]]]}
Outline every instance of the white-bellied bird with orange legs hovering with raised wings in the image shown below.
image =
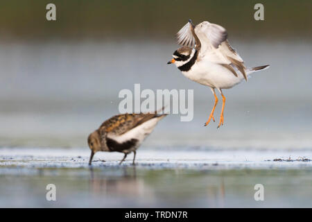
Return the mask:
{"type": "Polygon", "coordinates": [[[214,119],[214,110],[218,103],[215,89],[220,92],[223,100],[218,128],[224,123],[225,96],[222,89],[230,89],[248,80],[255,71],[269,67],[245,67],[239,53],[229,44],[227,31],[222,26],[202,22],[195,26],[191,19],[177,33],[177,44],[182,45],[173,53],[173,59],[167,64],[174,63],[182,74],[196,83],[207,85],[214,94],[214,107],[209,114],[205,126],[214,119]]]}

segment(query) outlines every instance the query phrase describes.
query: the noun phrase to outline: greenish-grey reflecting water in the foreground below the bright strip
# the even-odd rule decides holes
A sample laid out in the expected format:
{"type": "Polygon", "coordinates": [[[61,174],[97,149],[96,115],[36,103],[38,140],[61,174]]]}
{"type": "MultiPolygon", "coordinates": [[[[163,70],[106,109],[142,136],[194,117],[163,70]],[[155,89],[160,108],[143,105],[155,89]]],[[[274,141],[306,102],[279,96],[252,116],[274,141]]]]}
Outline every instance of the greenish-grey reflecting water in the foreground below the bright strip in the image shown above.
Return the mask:
{"type": "Polygon", "coordinates": [[[139,167],[6,170],[0,207],[311,207],[311,171],[146,170],[139,167]],[[11,173],[10,173],[11,172],[11,173]],[[47,184],[58,189],[48,203],[47,184]],[[263,184],[265,200],[254,200],[263,184]]]}

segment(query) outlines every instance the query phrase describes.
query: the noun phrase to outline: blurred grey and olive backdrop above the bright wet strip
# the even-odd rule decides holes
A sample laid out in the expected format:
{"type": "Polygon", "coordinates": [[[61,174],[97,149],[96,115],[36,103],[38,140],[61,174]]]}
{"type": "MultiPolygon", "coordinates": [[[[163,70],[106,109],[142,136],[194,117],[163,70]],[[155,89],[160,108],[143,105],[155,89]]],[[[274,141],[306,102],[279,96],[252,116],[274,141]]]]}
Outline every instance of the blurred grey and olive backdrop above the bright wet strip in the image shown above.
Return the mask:
{"type": "MultiPolygon", "coordinates": [[[[311,1],[1,1],[0,146],[85,147],[121,89],[194,89],[194,119],[166,117],[144,146],[311,148],[311,1]],[[55,3],[56,21],[46,20],[55,3]],[[263,3],[264,21],[254,20],[263,3]],[[193,19],[227,28],[246,65],[225,90],[225,126],[204,127],[208,87],[166,65],[193,19]]],[[[215,116],[219,117],[220,104],[215,116]]]]}

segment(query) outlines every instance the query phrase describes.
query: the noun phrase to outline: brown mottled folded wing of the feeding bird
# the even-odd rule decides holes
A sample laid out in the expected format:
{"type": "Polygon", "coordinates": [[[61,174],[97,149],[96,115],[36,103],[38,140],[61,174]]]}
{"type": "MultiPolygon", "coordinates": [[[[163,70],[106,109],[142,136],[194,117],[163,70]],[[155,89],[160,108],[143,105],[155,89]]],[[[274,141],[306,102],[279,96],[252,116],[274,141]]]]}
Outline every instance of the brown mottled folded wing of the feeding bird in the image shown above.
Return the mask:
{"type": "Polygon", "coordinates": [[[155,116],[157,116],[155,113],[119,114],[105,121],[100,126],[100,130],[105,130],[107,137],[116,137],[123,135],[123,133],[128,132],[155,116]]]}

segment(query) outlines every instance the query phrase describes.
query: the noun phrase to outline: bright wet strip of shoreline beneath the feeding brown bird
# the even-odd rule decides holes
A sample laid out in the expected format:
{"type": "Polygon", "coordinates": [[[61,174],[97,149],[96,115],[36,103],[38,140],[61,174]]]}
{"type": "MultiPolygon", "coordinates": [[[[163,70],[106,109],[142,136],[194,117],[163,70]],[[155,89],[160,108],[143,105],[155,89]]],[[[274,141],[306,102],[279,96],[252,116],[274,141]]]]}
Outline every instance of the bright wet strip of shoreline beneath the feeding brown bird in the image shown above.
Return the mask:
{"type": "MultiPolygon", "coordinates": [[[[123,153],[96,153],[93,167],[129,167],[133,155],[123,164],[123,153]],[[105,162],[103,162],[105,161],[105,162]]],[[[88,148],[1,148],[1,167],[89,167],[88,148]]],[[[312,152],[298,150],[252,150],[164,148],[137,152],[136,166],[148,169],[298,169],[312,168],[312,152]]]]}

